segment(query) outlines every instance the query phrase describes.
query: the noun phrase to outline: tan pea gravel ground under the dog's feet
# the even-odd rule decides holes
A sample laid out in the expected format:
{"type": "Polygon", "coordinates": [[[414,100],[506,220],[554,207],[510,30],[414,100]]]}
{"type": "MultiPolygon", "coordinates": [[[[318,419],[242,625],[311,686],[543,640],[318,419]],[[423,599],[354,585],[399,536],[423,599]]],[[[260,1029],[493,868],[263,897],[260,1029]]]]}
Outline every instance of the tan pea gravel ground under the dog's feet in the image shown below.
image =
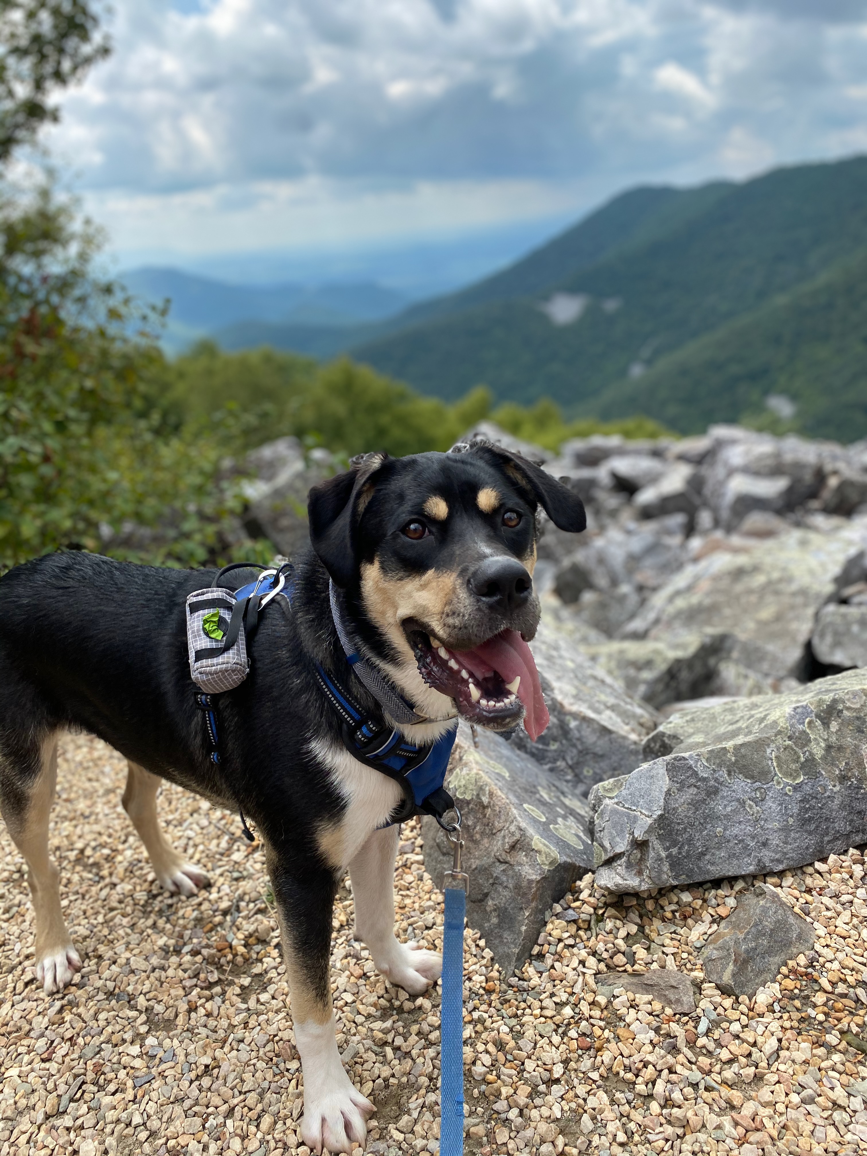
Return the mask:
{"type": "MultiPolygon", "coordinates": [[[[24,867],[0,835],[0,1156],[306,1156],[262,853],[236,818],[166,786],[165,828],[212,877],[193,899],[168,896],[120,807],[124,780],[123,761],[102,743],[62,743],[51,845],[84,968],[60,998],[34,980],[24,867]]],[[[587,875],[553,907],[533,959],[507,978],[467,932],[468,1149],[867,1150],[867,1066],[843,1038],[861,1035],[867,1010],[864,872],[851,851],[764,880],[817,939],[753,1001],[705,984],[697,957],[753,880],[609,898],[587,875]],[[616,985],[610,972],[651,966],[692,978],[694,1015],[616,986],[608,999],[596,992],[616,985]]],[[[403,831],[397,884],[401,933],[439,946],[440,896],[416,823],[403,831]]],[[[344,887],[334,920],[338,1038],[377,1104],[368,1148],[436,1153],[438,994],[410,1000],[386,985],[351,926],[344,887]]]]}

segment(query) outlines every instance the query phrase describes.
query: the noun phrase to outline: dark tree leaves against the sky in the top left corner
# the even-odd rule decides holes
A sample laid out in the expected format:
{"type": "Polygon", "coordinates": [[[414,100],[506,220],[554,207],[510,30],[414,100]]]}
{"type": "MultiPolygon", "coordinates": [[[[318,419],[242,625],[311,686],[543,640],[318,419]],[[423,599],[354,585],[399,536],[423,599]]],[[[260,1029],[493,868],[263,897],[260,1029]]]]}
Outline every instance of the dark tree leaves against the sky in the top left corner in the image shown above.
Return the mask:
{"type": "Polygon", "coordinates": [[[58,119],[49,102],[109,51],[82,0],[0,0],[0,164],[58,119]]]}

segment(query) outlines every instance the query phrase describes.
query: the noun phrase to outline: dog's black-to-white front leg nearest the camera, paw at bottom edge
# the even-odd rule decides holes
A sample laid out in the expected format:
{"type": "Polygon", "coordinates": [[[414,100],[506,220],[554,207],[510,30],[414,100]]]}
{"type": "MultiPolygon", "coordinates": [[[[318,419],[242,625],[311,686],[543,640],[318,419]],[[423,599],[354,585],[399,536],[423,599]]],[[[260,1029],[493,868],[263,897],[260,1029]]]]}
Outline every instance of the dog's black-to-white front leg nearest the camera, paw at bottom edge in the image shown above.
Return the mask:
{"type": "Polygon", "coordinates": [[[373,1105],[343,1070],[334,1035],[328,968],[336,875],[313,861],[289,869],[274,852],[268,867],[304,1075],[302,1138],[318,1153],[348,1153],[353,1141],[364,1143],[373,1105]]]}

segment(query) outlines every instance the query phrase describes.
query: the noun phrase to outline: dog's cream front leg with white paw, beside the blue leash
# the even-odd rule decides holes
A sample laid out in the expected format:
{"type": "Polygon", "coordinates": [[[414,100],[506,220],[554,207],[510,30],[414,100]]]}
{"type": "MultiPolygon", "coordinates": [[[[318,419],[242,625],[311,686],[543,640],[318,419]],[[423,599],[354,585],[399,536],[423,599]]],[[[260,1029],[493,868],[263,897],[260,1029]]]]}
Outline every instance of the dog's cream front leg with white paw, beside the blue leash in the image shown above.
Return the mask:
{"type": "Polygon", "coordinates": [[[373,831],[349,864],[355,899],[355,938],[366,943],[377,971],[410,995],[436,983],[443,957],[394,938],[394,857],[399,827],[373,831]]]}

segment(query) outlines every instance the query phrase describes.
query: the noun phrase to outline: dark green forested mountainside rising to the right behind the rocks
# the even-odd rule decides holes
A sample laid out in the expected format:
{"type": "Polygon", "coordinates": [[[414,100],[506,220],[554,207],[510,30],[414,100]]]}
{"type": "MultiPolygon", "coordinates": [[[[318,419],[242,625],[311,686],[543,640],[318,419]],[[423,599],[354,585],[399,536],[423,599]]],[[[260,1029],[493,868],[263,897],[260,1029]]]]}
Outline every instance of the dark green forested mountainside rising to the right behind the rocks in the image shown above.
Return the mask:
{"type": "Polygon", "coordinates": [[[805,432],[864,436],[867,317],[851,265],[861,252],[862,157],[741,185],[633,190],[353,353],[444,398],[484,383],[499,399],[550,397],[570,415],[638,409],[683,430],[791,392],[805,432]],[[556,295],[571,320],[551,319],[556,295]]]}

